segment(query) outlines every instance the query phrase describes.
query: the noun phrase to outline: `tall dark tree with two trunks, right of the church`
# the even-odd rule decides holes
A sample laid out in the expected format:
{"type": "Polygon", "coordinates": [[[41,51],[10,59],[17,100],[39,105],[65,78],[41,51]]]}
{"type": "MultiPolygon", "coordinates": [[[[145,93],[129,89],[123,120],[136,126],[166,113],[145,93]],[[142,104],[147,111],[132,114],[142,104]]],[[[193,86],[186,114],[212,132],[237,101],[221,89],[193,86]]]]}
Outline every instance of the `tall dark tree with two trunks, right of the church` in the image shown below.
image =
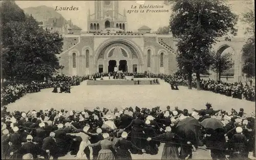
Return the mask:
{"type": "MultiPolygon", "coordinates": [[[[214,63],[212,45],[219,37],[236,35],[238,16],[223,1],[166,1],[172,4],[170,30],[178,38],[178,67],[188,75],[196,73],[197,89],[200,90],[200,73],[214,63]]],[[[226,37],[228,39],[228,37],[226,37]]]]}

